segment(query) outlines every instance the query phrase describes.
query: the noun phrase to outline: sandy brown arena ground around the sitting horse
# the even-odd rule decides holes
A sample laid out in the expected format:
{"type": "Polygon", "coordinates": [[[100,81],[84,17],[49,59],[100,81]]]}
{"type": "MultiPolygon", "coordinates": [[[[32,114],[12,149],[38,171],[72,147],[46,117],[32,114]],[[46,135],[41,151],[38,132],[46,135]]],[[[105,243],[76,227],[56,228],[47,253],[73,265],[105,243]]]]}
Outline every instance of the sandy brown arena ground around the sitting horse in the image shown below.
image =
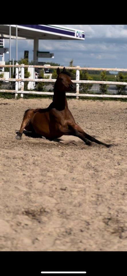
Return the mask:
{"type": "Polygon", "coordinates": [[[23,134],[50,99],[0,98],[0,251],[127,251],[127,104],[69,99],[76,122],[111,148],[23,134]]]}

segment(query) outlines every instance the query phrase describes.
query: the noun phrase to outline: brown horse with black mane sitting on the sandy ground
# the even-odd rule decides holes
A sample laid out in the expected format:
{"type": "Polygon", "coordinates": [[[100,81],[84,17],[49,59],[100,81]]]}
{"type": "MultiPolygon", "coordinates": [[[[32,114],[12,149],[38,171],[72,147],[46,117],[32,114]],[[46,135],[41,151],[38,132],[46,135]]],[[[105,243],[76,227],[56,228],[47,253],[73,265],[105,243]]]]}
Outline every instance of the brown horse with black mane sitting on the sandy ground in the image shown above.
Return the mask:
{"type": "Polygon", "coordinates": [[[61,73],[59,68],[57,68],[57,75],[52,103],[48,108],[26,110],[16,139],[20,140],[23,130],[26,129],[27,131],[42,135],[47,139],[59,138],[62,135],[73,135],[82,139],[87,145],[91,145],[90,141],[92,141],[110,147],[111,145],[100,142],[85,133],[76,124],[68,108],[66,98],[67,91],[76,91],[76,84],[71,81],[71,76],[65,67],[61,73]]]}

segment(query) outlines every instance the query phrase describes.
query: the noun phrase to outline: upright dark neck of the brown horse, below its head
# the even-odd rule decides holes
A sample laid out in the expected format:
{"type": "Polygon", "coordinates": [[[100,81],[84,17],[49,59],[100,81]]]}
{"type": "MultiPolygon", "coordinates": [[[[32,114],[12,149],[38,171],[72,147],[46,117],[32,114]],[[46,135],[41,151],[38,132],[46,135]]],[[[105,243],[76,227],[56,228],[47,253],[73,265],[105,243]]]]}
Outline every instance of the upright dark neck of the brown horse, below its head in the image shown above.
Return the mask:
{"type": "Polygon", "coordinates": [[[66,93],[54,89],[53,103],[54,107],[58,110],[68,109],[66,93]]]}

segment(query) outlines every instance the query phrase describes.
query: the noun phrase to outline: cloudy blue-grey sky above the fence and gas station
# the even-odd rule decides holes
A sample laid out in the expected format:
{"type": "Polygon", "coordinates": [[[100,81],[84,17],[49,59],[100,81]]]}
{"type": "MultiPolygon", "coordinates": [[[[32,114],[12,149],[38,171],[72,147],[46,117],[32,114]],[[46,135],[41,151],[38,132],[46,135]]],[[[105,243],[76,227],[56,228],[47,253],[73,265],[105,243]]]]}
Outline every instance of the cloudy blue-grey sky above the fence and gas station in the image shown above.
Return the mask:
{"type": "MultiPolygon", "coordinates": [[[[54,53],[53,58],[38,59],[42,62],[55,62],[69,66],[73,59],[74,66],[96,68],[127,68],[127,25],[61,25],[83,30],[85,40],[58,41],[40,40],[39,51],[54,53]]],[[[18,40],[18,60],[24,57],[24,50],[29,51],[29,61],[33,60],[33,40],[18,40]]],[[[5,39],[9,47],[9,39],[5,39]]],[[[15,40],[11,40],[11,59],[15,57],[15,40]]],[[[0,57],[0,60],[1,57],[0,57]]],[[[9,54],[5,54],[5,61],[9,54]]]]}

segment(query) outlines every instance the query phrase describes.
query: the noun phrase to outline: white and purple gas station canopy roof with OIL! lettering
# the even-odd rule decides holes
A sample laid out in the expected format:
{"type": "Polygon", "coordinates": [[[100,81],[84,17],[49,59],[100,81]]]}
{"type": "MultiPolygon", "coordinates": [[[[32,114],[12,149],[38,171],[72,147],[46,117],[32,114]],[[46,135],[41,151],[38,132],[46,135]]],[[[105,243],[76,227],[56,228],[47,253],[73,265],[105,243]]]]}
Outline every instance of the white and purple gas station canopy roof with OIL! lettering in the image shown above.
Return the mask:
{"type": "MultiPolygon", "coordinates": [[[[0,25],[0,38],[9,38],[9,26],[0,25]]],[[[11,39],[15,39],[16,25],[11,25],[11,39]]],[[[84,40],[85,32],[60,25],[17,25],[18,39],[84,40]]]]}

